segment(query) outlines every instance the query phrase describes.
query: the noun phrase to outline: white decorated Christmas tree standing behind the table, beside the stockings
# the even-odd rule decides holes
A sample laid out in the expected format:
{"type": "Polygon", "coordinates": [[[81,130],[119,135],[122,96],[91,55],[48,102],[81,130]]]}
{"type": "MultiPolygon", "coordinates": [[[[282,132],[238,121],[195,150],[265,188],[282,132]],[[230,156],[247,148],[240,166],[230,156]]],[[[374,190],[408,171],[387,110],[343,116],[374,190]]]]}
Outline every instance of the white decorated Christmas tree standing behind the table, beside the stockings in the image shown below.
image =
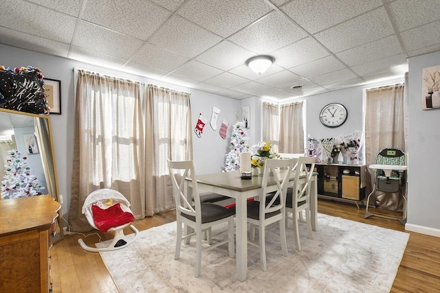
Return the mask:
{"type": "Polygon", "coordinates": [[[248,143],[248,132],[245,131],[245,123],[237,122],[232,127],[230,152],[226,154],[225,171],[235,171],[240,168],[240,154],[249,152],[250,145],[248,143]]]}

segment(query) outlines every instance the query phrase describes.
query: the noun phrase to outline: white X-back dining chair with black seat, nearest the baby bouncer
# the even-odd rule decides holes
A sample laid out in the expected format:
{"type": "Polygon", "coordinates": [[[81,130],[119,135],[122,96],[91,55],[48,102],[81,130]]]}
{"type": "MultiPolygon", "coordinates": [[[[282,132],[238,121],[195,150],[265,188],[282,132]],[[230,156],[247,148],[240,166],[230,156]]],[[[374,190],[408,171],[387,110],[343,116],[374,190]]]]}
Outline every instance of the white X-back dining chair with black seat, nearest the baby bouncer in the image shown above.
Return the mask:
{"type": "Polygon", "coordinates": [[[170,172],[171,183],[173,184],[173,194],[176,204],[177,235],[174,259],[179,259],[180,257],[182,240],[190,239],[192,236],[195,236],[195,277],[199,277],[201,272],[202,250],[209,250],[228,243],[229,256],[234,257],[235,211],[211,202],[201,203],[199,189],[197,187],[197,176],[192,161],[168,160],[168,169],[170,172]],[[188,196],[188,187],[186,184],[187,177],[192,181],[193,202],[191,196],[188,196]],[[219,241],[215,244],[209,243],[210,246],[203,247],[203,231],[207,231],[212,226],[224,222],[228,222],[228,239],[219,241]],[[182,224],[192,228],[192,233],[182,235],[182,224]]]}

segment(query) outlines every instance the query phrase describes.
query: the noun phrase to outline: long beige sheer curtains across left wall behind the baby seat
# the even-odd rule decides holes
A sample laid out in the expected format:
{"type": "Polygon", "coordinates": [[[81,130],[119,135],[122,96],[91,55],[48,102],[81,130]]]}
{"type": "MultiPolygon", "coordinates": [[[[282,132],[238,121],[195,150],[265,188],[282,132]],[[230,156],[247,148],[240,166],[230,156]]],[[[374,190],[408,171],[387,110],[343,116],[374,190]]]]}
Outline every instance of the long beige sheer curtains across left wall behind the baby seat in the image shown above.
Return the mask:
{"type": "Polygon", "coordinates": [[[90,229],[81,209],[99,188],[120,191],[137,219],[174,207],[166,159],[192,158],[190,95],[143,86],[78,70],[72,231],[90,229]]]}

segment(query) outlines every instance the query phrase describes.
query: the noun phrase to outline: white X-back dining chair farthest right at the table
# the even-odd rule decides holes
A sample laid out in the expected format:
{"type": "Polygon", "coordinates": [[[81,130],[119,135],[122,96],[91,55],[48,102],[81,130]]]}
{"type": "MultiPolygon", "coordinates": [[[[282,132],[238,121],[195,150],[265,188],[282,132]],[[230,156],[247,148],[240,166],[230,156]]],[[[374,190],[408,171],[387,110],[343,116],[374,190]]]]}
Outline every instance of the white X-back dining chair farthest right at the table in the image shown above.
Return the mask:
{"type": "MultiPolygon", "coordinates": [[[[298,163],[294,167],[295,180],[294,186],[287,189],[286,196],[286,213],[292,213],[292,221],[294,226],[294,239],[296,249],[301,250],[300,235],[298,230],[298,217],[300,213],[305,211],[305,222],[307,224],[307,234],[313,239],[311,231],[311,213],[310,213],[310,190],[311,181],[314,176],[315,157],[302,156],[298,158],[298,163]],[[300,183],[300,176],[305,176],[305,182],[300,183]]],[[[288,215],[286,215],[286,226],[288,215]]],[[[302,220],[302,217],[300,217],[302,220]]]]}

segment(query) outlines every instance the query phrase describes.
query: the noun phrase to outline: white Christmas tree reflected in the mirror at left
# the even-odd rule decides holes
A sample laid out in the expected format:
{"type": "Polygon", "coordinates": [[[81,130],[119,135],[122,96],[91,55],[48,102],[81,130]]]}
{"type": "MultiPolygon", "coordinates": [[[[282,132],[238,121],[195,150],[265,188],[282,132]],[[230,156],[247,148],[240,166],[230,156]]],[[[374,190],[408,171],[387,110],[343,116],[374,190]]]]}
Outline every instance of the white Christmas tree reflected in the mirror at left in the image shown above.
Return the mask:
{"type": "Polygon", "coordinates": [[[1,199],[27,198],[41,196],[39,180],[31,174],[26,163],[26,157],[21,157],[19,150],[8,150],[5,164],[5,180],[1,181],[1,199]]]}

